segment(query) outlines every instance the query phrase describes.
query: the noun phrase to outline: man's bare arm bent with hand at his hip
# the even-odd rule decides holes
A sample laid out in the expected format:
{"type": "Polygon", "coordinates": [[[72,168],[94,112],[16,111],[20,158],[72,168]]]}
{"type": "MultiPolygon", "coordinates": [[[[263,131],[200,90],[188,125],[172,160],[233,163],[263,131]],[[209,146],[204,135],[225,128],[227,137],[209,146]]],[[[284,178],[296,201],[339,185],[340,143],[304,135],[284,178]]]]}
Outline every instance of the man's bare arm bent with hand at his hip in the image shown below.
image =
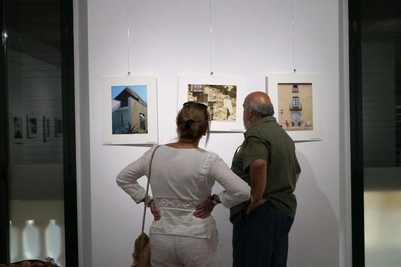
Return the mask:
{"type": "Polygon", "coordinates": [[[266,173],[267,173],[267,162],[264,159],[257,159],[252,161],[249,165],[249,176],[251,178],[251,192],[252,199],[251,204],[247,207],[247,214],[251,213],[255,208],[263,205],[266,199],[262,199],[263,193],[266,188],[266,173]],[[260,202],[258,200],[261,200],[260,202]]]}

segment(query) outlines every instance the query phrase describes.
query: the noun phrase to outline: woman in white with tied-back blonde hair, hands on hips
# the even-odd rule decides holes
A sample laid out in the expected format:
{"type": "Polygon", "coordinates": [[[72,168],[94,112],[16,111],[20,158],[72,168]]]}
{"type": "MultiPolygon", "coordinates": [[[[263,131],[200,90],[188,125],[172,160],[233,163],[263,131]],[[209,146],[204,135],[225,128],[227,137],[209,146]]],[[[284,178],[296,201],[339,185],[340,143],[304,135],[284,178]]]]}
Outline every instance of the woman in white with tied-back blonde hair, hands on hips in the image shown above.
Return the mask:
{"type": "Polygon", "coordinates": [[[155,148],[125,167],[117,184],[131,198],[155,205],[158,214],[149,229],[152,266],[221,266],[221,249],[213,205],[230,208],[250,198],[250,187],[215,153],[199,148],[209,140],[210,114],[206,105],[184,103],[176,118],[178,141],[161,145],[154,154],[152,198],[137,183],[147,175],[155,148]],[[215,182],[225,190],[212,195],[215,182]],[[208,200],[213,201],[206,201],[208,200]],[[149,200],[150,199],[150,200],[149,200]],[[210,206],[212,205],[212,206],[210,206]]]}

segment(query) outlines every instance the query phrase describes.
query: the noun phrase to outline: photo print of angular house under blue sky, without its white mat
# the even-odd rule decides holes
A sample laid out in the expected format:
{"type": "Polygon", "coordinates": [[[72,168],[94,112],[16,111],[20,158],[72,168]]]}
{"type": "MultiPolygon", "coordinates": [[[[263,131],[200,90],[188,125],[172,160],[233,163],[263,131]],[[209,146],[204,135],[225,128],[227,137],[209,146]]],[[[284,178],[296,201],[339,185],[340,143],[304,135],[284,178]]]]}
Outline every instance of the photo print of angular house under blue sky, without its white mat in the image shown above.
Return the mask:
{"type": "Polygon", "coordinates": [[[146,86],[112,86],[112,133],[147,133],[148,125],[146,101],[146,86]],[[138,91],[144,91],[145,97],[140,97],[139,94],[135,92],[136,87],[138,87],[138,91]],[[113,98],[113,95],[116,94],[116,91],[118,94],[113,98]],[[145,98],[145,100],[143,100],[143,98],[145,98]]]}

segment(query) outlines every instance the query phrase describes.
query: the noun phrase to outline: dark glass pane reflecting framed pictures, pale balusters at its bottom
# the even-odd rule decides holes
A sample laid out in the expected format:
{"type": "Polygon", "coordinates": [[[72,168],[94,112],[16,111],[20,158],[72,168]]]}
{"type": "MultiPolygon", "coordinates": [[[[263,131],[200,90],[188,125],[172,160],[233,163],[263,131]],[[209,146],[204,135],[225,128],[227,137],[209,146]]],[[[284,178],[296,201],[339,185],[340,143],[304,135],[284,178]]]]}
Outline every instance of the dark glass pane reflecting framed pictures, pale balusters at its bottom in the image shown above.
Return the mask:
{"type": "Polygon", "coordinates": [[[60,1],[4,9],[11,261],[65,266],[60,1]]]}

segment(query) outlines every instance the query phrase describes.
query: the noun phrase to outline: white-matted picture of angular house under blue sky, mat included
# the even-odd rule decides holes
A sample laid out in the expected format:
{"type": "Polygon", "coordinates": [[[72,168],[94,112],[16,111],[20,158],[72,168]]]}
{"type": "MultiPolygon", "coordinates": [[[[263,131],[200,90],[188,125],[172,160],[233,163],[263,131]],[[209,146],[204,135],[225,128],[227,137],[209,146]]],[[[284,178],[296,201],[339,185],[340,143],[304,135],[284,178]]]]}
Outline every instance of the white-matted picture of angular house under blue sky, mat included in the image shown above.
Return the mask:
{"type": "Polygon", "coordinates": [[[156,76],[102,77],[103,145],[158,142],[156,76]]]}

